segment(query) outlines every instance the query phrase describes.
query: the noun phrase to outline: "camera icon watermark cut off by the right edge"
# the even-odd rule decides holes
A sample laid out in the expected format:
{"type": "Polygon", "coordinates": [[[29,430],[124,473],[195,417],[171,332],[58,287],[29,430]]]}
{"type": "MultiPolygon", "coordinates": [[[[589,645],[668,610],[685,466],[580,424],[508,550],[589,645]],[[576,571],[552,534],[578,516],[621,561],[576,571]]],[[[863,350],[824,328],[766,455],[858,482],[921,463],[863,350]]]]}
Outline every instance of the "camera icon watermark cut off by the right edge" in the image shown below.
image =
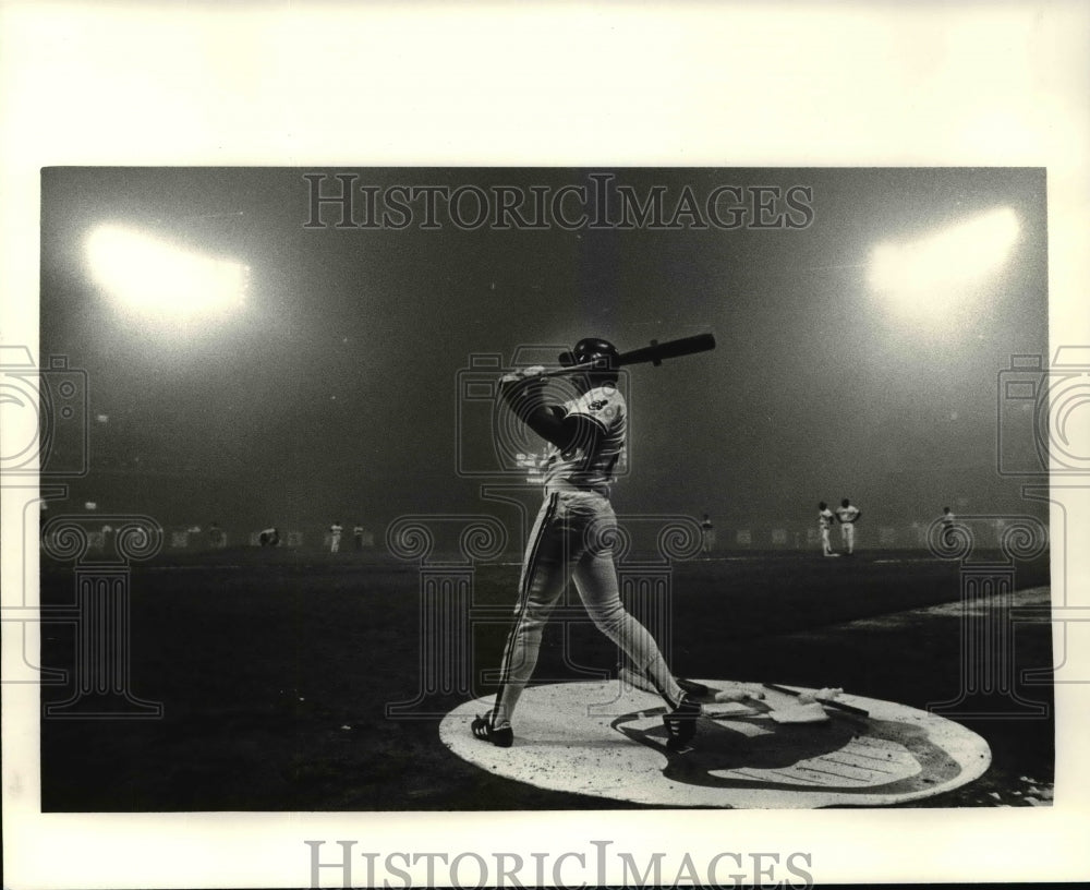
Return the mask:
{"type": "Polygon", "coordinates": [[[1090,476],[1090,346],[1012,356],[997,397],[1001,476],[1090,476]]]}

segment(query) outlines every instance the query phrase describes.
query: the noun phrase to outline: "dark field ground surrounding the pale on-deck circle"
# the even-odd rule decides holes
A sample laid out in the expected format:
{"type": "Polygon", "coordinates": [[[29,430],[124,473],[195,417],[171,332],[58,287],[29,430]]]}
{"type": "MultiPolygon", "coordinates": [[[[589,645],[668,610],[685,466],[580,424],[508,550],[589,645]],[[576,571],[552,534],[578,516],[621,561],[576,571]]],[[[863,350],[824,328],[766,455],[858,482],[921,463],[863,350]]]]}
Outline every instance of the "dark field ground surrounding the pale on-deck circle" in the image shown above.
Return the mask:
{"type": "MultiPolygon", "coordinates": [[[[161,702],[162,717],[43,719],[41,808],[630,806],[496,778],[438,741],[438,718],[426,714],[491,690],[481,677],[498,662],[518,575],[513,564],[476,568],[472,689],[427,695],[415,717],[393,720],[385,715],[388,703],[437,688],[422,685],[416,566],[366,562],[352,553],[251,549],[160,557],[134,567],[128,686],[140,699],[161,702]]],[[[1017,589],[1047,582],[1047,555],[1017,564],[1017,589]]],[[[839,560],[753,554],[676,564],[671,584],[668,649],[680,675],[839,686],[922,709],[958,697],[966,624],[958,610],[907,612],[958,603],[957,564],[908,551],[839,560]]],[[[47,611],[70,605],[75,589],[71,566],[43,564],[47,611]]],[[[71,623],[44,623],[43,666],[71,671],[75,634],[71,623]]],[[[1050,625],[1018,623],[1012,639],[998,690],[961,706],[982,715],[958,718],[988,741],[992,768],[976,783],[924,805],[1019,805],[1033,787],[1047,789],[1043,796],[1051,798],[1050,625]],[[1038,672],[1033,685],[1024,683],[1027,670],[1038,672]],[[1046,715],[1019,717],[1026,710],[1019,697],[1045,706],[1046,715]]],[[[616,650],[589,624],[558,620],[546,633],[537,679],[601,675],[616,662],[616,650]]],[[[73,688],[71,681],[45,685],[43,700],[63,701],[73,688]]]]}

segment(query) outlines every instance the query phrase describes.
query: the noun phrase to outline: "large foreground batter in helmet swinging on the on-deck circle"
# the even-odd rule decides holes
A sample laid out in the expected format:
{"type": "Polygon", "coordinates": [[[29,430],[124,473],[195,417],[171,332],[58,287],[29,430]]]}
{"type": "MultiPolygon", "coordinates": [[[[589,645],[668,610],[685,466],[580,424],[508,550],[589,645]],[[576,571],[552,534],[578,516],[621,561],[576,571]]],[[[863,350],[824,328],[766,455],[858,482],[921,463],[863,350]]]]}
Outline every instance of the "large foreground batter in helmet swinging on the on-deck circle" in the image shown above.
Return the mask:
{"type": "Polygon", "coordinates": [[[512,721],[519,697],[537,663],[542,632],[569,578],[595,626],[625,652],[634,670],[665,699],[663,722],[671,750],[683,748],[697,731],[700,702],[670,673],[658,645],[620,601],[611,538],[617,517],[609,503],[613,470],[625,448],[628,413],[617,389],[617,349],[588,338],[560,357],[565,366],[596,361],[572,375],[577,397],[565,405],[545,398],[543,368],[500,380],[500,399],[547,443],[545,500],[526,543],[514,623],[499,670],[495,707],[471,724],[473,735],[499,747],[514,741],[512,721]]]}

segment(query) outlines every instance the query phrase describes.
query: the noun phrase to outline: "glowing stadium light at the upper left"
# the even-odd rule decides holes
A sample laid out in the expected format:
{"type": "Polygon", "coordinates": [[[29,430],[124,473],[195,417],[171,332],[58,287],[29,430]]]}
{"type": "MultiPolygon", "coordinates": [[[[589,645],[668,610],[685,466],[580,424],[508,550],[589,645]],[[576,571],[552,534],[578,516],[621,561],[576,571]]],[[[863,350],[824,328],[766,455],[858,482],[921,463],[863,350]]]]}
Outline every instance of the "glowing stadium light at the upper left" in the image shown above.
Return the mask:
{"type": "Polygon", "coordinates": [[[247,266],[132,229],[99,226],[87,239],[87,254],[98,284],[144,314],[193,318],[229,310],[245,298],[247,266]]]}

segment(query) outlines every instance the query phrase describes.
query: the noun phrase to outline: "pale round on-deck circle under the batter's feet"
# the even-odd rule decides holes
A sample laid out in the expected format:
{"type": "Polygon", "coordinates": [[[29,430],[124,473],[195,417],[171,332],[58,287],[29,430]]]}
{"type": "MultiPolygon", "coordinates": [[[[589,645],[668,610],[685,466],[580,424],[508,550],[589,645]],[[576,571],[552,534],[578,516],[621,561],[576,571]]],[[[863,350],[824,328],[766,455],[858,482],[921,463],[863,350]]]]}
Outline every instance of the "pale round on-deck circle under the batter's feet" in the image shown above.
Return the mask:
{"type": "Polygon", "coordinates": [[[439,736],[458,756],[509,779],[655,806],[885,806],[967,784],[991,762],[984,739],[953,721],[889,701],[840,700],[860,712],[819,705],[807,706],[808,717],[786,717],[803,710],[779,691],[708,705],[691,748],[673,753],[657,696],[617,681],[562,683],[525,690],[511,748],[470,733],[492,697],[456,708],[439,736]]]}

